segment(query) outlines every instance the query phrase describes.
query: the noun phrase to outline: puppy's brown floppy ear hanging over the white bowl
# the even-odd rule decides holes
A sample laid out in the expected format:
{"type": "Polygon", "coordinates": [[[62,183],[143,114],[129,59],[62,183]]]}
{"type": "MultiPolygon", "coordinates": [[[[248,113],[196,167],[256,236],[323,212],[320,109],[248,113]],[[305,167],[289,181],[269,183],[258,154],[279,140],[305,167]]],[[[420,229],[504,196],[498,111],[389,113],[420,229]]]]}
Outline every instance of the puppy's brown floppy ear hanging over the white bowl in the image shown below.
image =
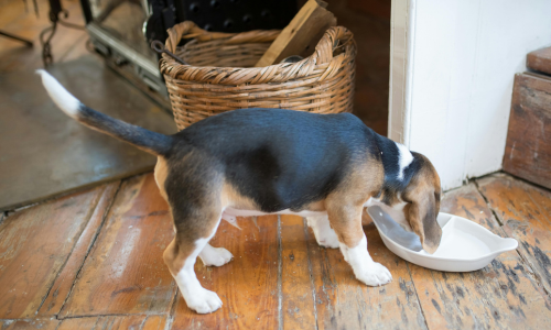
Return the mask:
{"type": "Polygon", "coordinates": [[[421,240],[424,251],[434,253],[440,245],[442,229],[436,221],[440,210],[440,191],[437,195],[432,189],[415,191],[413,198],[404,207],[404,215],[421,240]]]}

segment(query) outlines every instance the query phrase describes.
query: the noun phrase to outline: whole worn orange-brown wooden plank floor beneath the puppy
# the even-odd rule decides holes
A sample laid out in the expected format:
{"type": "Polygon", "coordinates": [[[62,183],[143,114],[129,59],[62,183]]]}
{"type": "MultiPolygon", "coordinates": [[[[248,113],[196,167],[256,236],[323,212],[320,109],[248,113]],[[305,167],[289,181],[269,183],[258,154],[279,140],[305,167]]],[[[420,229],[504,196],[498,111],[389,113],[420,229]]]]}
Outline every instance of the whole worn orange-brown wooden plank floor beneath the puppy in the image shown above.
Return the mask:
{"type": "Polygon", "coordinates": [[[173,237],[153,175],[98,186],[0,223],[0,329],[549,329],[551,193],[505,174],[449,191],[442,211],[519,249],[473,273],[430,271],[388,251],[366,216],[369,251],[393,282],[367,287],[295,216],[225,221],[212,241],[235,256],[195,270],[224,302],[191,311],[162,262],[173,237]]]}

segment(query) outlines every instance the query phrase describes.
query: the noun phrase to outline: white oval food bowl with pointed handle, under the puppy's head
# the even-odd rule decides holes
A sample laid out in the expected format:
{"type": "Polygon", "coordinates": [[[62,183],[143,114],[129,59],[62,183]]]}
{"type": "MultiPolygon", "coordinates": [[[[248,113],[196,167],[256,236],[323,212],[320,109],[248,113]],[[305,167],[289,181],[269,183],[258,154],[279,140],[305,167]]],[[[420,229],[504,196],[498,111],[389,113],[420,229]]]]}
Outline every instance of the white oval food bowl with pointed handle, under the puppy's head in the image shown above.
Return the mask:
{"type": "MultiPolygon", "coordinates": [[[[376,209],[377,212],[383,212],[380,208],[376,209]]],[[[374,208],[368,208],[367,211],[371,218],[382,216],[375,215],[374,208]]],[[[442,240],[434,254],[429,254],[424,250],[415,252],[397,244],[377,227],[377,221],[374,223],[382,242],[390,251],[410,263],[436,271],[478,271],[488,265],[497,255],[518,246],[517,240],[500,238],[465,218],[440,212],[437,221],[442,228],[442,240]]]]}

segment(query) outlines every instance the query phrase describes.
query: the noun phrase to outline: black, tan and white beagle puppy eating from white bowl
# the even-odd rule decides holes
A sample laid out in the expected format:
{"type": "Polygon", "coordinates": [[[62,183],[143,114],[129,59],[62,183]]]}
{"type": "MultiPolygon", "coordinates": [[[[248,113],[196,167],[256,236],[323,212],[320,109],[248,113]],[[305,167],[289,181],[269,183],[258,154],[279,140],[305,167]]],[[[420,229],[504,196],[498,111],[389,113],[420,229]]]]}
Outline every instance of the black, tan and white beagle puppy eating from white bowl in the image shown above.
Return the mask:
{"type": "Polygon", "coordinates": [[[306,217],[317,243],[339,248],[356,278],[370,286],[392,276],[367,251],[361,213],[369,204],[403,215],[399,221],[419,235],[426,252],[440,244],[441,187],[431,162],[350,113],[241,109],[169,136],[99,113],[46,72],[37,73],[66,114],[158,156],[154,176],[175,230],[163,257],[187,306],[199,314],[222,307],[194,272],[197,256],[207,266],[233,258],[226,249],[208,244],[222,219],[306,217]]]}

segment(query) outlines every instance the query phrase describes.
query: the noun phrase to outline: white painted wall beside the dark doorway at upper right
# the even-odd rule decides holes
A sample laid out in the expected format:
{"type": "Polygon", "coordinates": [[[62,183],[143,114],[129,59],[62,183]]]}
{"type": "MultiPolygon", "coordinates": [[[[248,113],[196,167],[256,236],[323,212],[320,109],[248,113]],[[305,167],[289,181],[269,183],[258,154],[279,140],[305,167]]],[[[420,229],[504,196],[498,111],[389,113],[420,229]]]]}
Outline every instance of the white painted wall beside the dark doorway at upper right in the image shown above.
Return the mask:
{"type": "Polygon", "coordinates": [[[551,45],[551,0],[392,0],[389,138],[444,189],[501,168],[512,81],[551,45]]]}

